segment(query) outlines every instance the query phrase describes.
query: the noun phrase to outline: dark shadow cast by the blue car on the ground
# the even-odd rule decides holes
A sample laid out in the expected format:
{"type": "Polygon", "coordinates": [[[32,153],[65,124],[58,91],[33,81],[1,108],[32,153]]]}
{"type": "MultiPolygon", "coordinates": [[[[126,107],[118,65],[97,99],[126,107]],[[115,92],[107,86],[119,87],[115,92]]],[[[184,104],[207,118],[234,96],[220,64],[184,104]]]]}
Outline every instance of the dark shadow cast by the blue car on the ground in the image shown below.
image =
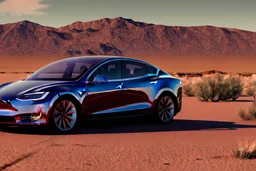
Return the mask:
{"type": "MultiPolygon", "coordinates": [[[[256,125],[236,124],[235,122],[176,119],[168,124],[158,124],[150,119],[122,119],[98,120],[83,122],[79,128],[69,132],[74,134],[115,134],[115,133],[146,133],[173,131],[201,131],[201,130],[237,130],[242,128],[256,128],[256,125]]],[[[0,128],[2,132],[15,134],[58,135],[43,128],[0,128]]]]}

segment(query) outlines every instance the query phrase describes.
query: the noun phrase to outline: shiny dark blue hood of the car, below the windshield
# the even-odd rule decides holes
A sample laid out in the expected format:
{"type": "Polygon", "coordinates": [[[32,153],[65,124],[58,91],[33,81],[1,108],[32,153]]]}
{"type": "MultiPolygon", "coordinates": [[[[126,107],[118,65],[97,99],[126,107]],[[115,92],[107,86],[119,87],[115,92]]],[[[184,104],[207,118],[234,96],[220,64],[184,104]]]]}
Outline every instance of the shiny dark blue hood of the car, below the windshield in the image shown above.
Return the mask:
{"type": "Polygon", "coordinates": [[[65,84],[64,81],[32,81],[32,80],[21,80],[17,82],[10,83],[8,85],[0,88],[0,99],[2,100],[12,100],[17,96],[40,90],[44,87],[51,87],[54,85],[65,84]]]}

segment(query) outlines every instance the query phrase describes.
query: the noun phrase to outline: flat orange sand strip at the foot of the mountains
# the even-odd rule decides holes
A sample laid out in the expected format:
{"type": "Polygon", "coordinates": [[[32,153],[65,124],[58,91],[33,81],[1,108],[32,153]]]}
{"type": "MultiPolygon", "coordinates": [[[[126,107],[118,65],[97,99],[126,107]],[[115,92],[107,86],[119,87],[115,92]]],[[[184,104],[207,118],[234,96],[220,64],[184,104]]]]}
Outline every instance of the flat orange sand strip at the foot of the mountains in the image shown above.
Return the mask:
{"type": "MultiPolygon", "coordinates": [[[[127,55],[129,56],[129,55],[127,55]]],[[[202,72],[219,70],[223,72],[252,72],[256,73],[253,57],[236,56],[164,56],[164,55],[131,55],[150,62],[167,72],[202,72]],[[243,59],[243,60],[241,60],[243,59]]],[[[33,72],[51,62],[61,60],[61,56],[1,56],[0,72],[33,72]]]]}

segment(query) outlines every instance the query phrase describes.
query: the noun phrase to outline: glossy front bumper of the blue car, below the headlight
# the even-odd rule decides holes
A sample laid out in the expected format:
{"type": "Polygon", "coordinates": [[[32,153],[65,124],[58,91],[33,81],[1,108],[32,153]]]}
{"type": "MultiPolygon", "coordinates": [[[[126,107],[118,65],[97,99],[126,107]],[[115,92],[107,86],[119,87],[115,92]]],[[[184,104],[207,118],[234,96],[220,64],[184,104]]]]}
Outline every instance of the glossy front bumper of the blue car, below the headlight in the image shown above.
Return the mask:
{"type": "Polygon", "coordinates": [[[50,104],[43,101],[0,102],[0,124],[48,125],[50,104]]]}

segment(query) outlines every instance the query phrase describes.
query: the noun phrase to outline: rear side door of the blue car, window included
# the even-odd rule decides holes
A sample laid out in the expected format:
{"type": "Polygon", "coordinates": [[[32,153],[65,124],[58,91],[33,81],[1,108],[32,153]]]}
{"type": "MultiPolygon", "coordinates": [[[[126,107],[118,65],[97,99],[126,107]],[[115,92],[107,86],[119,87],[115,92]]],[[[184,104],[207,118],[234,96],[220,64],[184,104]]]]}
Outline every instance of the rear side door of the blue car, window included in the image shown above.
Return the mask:
{"type": "Polygon", "coordinates": [[[130,110],[151,108],[160,87],[160,81],[156,76],[157,69],[138,61],[125,60],[122,63],[122,70],[125,79],[124,94],[130,110]]]}

